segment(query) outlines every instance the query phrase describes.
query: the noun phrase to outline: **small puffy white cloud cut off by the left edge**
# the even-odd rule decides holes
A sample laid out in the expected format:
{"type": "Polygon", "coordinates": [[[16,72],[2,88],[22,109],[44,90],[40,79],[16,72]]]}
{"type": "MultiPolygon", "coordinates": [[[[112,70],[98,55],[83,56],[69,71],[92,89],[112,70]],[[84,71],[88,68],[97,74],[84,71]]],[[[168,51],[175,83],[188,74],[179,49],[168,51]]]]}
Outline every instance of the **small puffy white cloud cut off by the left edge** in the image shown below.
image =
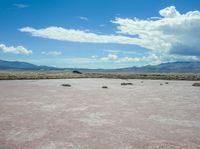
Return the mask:
{"type": "Polygon", "coordinates": [[[4,44],[0,44],[0,51],[3,51],[4,53],[14,53],[14,54],[31,54],[32,51],[24,48],[23,46],[17,46],[17,47],[7,47],[4,44]]]}

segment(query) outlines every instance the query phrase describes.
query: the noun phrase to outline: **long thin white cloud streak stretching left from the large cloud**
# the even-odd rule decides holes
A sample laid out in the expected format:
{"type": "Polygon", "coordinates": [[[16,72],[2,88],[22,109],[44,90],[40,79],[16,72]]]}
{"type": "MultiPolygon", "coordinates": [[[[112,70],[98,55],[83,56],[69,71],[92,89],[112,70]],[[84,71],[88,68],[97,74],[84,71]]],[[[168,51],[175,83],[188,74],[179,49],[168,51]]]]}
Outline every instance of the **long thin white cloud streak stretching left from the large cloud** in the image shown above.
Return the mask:
{"type": "Polygon", "coordinates": [[[24,27],[19,30],[36,37],[71,42],[134,44],[135,40],[137,40],[125,36],[99,35],[87,31],[64,29],[62,27],[48,27],[44,29],[24,27]]]}

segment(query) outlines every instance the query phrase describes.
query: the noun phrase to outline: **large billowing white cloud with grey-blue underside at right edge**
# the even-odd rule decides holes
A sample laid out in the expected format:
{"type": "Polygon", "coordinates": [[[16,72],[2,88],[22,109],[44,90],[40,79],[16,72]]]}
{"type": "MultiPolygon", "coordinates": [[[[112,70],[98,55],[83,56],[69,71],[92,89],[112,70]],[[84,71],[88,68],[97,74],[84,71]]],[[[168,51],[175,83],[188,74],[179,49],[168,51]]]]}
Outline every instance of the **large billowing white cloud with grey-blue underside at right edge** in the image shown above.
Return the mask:
{"type": "Polygon", "coordinates": [[[135,44],[159,52],[200,55],[200,12],[180,14],[174,6],[159,11],[156,20],[116,18],[118,33],[137,36],[135,44]]]}

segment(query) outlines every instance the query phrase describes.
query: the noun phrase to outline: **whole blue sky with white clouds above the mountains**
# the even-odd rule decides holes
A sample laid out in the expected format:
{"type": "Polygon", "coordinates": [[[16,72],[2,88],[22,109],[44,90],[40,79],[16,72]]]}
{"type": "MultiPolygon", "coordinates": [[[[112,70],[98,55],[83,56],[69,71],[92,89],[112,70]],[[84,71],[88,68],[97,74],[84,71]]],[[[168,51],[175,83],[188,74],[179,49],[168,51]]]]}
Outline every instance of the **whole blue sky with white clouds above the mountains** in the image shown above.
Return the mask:
{"type": "Polygon", "coordinates": [[[200,1],[0,0],[0,59],[104,69],[200,61],[200,1]]]}

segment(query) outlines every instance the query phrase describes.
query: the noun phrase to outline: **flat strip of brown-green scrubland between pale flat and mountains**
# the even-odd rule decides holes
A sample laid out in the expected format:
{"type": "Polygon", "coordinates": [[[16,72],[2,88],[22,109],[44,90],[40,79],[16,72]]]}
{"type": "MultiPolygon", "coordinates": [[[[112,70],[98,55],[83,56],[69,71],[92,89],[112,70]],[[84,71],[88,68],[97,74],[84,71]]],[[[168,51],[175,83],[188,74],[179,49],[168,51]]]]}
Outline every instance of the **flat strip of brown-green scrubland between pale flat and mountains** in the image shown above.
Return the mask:
{"type": "Polygon", "coordinates": [[[0,71],[0,80],[29,79],[73,79],[73,78],[110,78],[110,79],[152,79],[152,80],[200,80],[200,73],[118,73],[71,71],[0,71]]]}

